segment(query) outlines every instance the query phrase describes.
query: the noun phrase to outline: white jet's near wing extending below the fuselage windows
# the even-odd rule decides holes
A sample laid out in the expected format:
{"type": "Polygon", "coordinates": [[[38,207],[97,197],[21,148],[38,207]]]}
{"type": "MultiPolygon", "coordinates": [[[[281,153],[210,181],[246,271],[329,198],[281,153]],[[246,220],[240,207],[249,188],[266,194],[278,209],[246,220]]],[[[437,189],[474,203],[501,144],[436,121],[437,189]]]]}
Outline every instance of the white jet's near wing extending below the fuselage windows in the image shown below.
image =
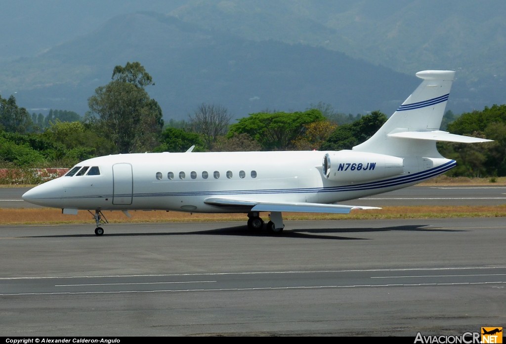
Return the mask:
{"type": "Polygon", "coordinates": [[[209,197],[204,200],[204,203],[224,208],[250,208],[249,211],[252,212],[349,214],[353,209],[381,209],[377,207],[348,206],[344,204],[261,202],[223,197],[209,197]]]}

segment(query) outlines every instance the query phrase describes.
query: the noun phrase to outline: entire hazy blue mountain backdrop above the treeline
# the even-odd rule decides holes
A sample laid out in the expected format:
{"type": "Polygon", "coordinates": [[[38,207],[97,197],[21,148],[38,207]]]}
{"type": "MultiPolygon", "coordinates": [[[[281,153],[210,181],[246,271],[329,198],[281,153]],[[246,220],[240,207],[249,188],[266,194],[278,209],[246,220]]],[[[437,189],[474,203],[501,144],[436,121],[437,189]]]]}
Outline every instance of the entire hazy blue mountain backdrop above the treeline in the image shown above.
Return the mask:
{"type": "Polygon", "coordinates": [[[346,113],[390,114],[423,69],[457,70],[454,112],[506,103],[501,1],[25,5],[0,4],[0,44],[8,47],[0,50],[0,93],[14,93],[33,111],[83,114],[94,89],[127,61],[153,76],[148,92],[165,118],[183,118],[202,102],[221,103],[236,117],[320,101],[346,113]],[[57,18],[48,21],[48,13],[57,18]],[[21,28],[23,20],[33,25],[21,28]]]}

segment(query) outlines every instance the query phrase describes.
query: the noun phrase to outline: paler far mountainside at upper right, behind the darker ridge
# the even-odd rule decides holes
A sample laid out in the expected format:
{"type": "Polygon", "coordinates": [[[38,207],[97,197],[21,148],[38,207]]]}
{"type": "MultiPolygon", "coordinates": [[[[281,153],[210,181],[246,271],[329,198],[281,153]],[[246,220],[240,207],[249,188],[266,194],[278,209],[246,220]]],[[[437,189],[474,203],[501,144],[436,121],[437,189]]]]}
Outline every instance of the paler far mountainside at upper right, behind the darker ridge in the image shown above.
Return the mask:
{"type": "Polygon", "coordinates": [[[247,39],[324,46],[407,74],[506,77],[503,0],[204,0],[171,15],[247,39]]]}

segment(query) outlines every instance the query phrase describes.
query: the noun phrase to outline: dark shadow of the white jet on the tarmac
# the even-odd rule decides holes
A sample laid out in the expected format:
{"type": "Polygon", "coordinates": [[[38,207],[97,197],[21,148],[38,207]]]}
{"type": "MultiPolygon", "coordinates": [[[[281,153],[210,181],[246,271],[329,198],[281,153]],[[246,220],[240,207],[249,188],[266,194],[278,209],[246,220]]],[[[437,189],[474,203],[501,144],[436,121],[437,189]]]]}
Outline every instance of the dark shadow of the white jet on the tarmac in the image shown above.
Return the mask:
{"type": "MultiPolygon", "coordinates": [[[[389,226],[379,228],[297,228],[284,230],[281,234],[271,234],[267,231],[252,232],[246,226],[224,227],[209,230],[198,230],[191,232],[145,232],[145,233],[105,233],[105,236],[172,236],[172,235],[237,235],[237,236],[273,236],[285,238],[307,238],[307,239],[331,239],[331,240],[369,240],[368,238],[357,238],[348,236],[322,235],[334,233],[362,233],[362,232],[385,232],[385,231],[427,231],[427,232],[463,232],[462,229],[426,228],[427,225],[405,225],[389,226]]],[[[62,234],[62,235],[35,235],[25,236],[26,238],[64,238],[64,237],[95,237],[95,234],[62,234]]]]}

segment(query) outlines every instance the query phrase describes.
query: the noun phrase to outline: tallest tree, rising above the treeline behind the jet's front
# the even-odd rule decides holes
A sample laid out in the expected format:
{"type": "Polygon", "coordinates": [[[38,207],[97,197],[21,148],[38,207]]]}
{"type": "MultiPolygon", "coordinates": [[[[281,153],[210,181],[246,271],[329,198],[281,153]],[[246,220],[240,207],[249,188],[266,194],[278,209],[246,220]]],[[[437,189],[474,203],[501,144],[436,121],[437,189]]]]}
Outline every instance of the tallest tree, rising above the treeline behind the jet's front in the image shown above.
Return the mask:
{"type": "Polygon", "coordinates": [[[152,150],[159,144],[163,116],[144,89],[151,76],[136,62],[116,66],[112,79],[88,99],[87,123],[109,137],[119,153],[152,150]]]}

